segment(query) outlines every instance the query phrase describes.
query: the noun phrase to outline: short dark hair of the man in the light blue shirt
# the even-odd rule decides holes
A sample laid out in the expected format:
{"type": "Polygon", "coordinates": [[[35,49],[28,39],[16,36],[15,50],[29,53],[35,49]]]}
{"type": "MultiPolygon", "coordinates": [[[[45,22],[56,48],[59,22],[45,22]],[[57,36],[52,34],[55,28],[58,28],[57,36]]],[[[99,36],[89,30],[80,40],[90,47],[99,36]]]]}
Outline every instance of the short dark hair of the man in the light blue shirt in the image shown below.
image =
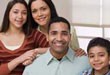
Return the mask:
{"type": "Polygon", "coordinates": [[[65,19],[64,17],[55,17],[55,18],[52,18],[49,22],[49,25],[48,25],[48,33],[49,33],[49,30],[50,30],[50,27],[53,23],[57,23],[57,22],[63,22],[63,23],[66,23],[67,26],[68,26],[68,30],[69,32],[71,31],[71,28],[70,28],[70,23],[67,19],[65,19]]]}

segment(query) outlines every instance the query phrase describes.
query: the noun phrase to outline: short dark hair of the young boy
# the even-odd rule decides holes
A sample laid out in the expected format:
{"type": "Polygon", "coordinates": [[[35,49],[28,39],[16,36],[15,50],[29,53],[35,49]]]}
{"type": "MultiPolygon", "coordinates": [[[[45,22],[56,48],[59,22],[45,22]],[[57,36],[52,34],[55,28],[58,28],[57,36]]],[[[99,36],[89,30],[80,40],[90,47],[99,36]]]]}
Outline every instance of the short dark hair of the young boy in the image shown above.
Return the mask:
{"type": "Polygon", "coordinates": [[[92,39],[87,47],[87,52],[89,52],[90,48],[94,46],[100,46],[106,48],[108,55],[110,55],[110,41],[101,37],[96,37],[92,39]]]}

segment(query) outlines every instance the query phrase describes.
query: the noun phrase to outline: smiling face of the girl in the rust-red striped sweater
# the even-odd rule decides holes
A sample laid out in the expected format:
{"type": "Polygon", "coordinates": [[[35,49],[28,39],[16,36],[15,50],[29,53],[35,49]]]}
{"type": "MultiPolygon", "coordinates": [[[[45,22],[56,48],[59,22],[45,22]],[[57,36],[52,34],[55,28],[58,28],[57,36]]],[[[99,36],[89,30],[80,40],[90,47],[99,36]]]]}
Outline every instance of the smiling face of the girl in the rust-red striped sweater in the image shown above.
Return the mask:
{"type": "Polygon", "coordinates": [[[16,3],[9,12],[10,26],[15,28],[22,28],[27,20],[27,9],[21,3],[16,3]]]}

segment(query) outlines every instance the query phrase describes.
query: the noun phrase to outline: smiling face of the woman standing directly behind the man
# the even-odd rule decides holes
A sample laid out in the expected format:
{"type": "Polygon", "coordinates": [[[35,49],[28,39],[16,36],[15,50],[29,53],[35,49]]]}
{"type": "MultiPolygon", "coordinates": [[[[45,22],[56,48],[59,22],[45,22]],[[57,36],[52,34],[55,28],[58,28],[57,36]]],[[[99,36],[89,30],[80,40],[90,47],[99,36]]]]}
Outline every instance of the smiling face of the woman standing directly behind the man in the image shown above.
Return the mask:
{"type": "Polygon", "coordinates": [[[32,17],[40,26],[47,26],[50,18],[51,11],[49,6],[43,0],[36,0],[31,5],[32,17]]]}

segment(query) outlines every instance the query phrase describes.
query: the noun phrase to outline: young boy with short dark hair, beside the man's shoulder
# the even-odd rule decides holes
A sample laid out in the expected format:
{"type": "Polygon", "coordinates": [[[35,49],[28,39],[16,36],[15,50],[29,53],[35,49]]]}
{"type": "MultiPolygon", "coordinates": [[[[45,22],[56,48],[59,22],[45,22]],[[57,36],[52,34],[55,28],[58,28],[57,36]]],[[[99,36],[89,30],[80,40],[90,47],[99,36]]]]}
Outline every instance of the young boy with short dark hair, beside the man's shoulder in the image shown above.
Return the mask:
{"type": "Polygon", "coordinates": [[[110,41],[97,37],[92,39],[87,47],[91,69],[82,75],[110,75],[110,41]]]}

